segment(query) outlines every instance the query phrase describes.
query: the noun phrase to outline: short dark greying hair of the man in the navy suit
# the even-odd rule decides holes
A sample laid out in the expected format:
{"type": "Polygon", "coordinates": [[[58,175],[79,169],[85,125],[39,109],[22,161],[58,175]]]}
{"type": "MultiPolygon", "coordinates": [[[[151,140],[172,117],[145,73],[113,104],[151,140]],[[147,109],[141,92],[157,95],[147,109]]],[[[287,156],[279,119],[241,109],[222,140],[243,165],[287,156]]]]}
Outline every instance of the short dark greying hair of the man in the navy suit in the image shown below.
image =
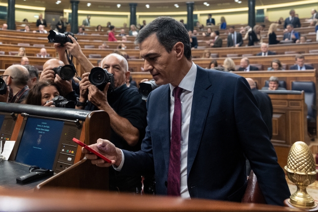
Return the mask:
{"type": "Polygon", "coordinates": [[[184,56],[191,58],[191,43],[188,32],[184,25],[170,17],[159,17],[151,21],[139,31],[135,44],[142,43],[147,37],[155,34],[159,43],[162,44],[168,53],[177,42],[184,45],[184,56]]]}

